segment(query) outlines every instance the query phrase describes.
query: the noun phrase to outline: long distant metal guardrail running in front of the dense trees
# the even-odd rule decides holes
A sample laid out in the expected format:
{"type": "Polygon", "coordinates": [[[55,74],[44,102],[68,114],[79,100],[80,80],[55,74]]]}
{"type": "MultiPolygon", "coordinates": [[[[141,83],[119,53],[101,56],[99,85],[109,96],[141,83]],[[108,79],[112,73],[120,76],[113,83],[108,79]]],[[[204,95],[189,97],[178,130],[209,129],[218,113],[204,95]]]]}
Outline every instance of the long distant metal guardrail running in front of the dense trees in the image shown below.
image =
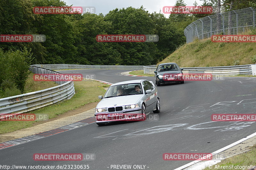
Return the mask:
{"type": "Polygon", "coordinates": [[[32,65],[53,70],[61,69],[143,69],[143,66],[119,66],[119,65],[77,65],[77,64],[43,64],[32,65]]]}

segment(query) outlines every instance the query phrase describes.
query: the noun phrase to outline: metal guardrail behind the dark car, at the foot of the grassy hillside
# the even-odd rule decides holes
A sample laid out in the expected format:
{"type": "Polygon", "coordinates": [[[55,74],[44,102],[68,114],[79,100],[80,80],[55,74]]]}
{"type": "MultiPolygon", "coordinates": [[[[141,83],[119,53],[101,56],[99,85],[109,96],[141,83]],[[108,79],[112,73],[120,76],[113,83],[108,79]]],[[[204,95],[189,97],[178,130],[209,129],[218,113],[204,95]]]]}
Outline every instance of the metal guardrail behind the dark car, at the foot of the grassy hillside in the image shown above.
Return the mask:
{"type": "MultiPolygon", "coordinates": [[[[156,65],[144,66],[145,74],[155,74],[156,65]]],[[[184,67],[183,73],[186,74],[213,74],[213,75],[237,75],[237,74],[252,74],[251,65],[240,66],[223,66],[223,67],[184,67]]]]}

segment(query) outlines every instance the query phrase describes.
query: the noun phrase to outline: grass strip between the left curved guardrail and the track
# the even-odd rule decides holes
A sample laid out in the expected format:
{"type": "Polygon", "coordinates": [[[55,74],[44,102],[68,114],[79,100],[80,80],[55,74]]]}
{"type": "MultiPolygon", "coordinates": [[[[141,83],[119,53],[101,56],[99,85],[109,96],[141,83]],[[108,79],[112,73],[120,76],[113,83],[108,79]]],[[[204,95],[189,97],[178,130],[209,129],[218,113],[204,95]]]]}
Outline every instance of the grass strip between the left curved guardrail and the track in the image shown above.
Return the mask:
{"type": "MultiPolygon", "coordinates": [[[[76,94],[70,100],[61,101],[28,113],[44,113],[51,119],[69,110],[84,106],[85,104],[100,101],[98,96],[104,95],[106,92],[104,88],[110,86],[92,80],[75,81],[74,84],[76,94]]],[[[35,122],[36,121],[0,121],[0,134],[31,127],[35,122]]]]}

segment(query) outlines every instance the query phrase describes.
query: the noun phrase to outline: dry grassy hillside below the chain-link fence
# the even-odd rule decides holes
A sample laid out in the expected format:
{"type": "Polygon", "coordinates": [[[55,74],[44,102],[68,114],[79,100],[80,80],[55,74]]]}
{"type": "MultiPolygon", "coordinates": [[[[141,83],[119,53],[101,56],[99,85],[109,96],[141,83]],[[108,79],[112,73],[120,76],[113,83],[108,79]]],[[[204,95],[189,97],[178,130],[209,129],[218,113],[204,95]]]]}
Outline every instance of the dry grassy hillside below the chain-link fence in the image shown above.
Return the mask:
{"type": "MultiPolygon", "coordinates": [[[[253,34],[252,32],[246,34],[253,34]]],[[[234,66],[256,63],[256,43],[216,43],[195,40],[180,46],[161,62],[175,62],[180,67],[234,66]]]]}

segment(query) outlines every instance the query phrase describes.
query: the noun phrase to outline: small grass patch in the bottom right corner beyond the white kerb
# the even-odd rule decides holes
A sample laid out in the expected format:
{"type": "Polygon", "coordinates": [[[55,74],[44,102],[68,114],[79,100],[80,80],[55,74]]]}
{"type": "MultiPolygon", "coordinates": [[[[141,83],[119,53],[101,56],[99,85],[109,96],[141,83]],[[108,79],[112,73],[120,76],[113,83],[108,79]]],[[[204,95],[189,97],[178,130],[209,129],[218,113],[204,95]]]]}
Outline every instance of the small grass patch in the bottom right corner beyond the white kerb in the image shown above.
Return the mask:
{"type": "MultiPolygon", "coordinates": [[[[256,166],[256,159],[255,159],[255,155],[256,155],[256,148],[255,148],[255,145],[252,147],[253,149],[248,151],[248,152],[244,152],[244,153],[241,153],[239,155],[236,155],[236,156],[233,156],[233,157],[230,157],[230,158],[227,158],[225,160],[222,160],[220,163],[216,164],[216,165],[213,165],[212,166],[212,169],[219,166],[256,166]]],[[[226,170],[224,168],[215,168],[215,169],[218,169],[218,170],[226,170]]],[[[230,168],[232,169],[232,168],[230,168]]],[[[234,168],[233,168],[234,169],[234,168]]],[[[248,169],[248,168],[245,168],[245,169],[248,169]]],[[[211,170],[210,168],[205,168],[204,170],[211,170]]],[[[240,169],[241,170],[241,169],[240,169]]]]}

